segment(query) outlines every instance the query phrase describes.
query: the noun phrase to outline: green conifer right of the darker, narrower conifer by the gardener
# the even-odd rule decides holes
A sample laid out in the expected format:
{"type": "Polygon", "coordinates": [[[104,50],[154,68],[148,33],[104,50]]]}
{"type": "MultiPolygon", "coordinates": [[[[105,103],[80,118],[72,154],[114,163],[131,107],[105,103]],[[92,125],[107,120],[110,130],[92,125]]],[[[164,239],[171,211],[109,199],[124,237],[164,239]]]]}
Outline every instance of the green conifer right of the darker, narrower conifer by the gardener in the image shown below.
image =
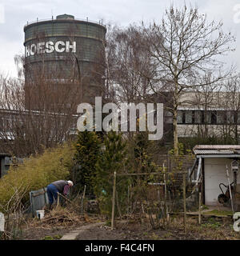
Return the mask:
{"type": "MultiPolygon", "coordinates": [[[[113,195],[113,178],[114,171],[123,173],[127,165],[127,149],[126,142],[122,139],[122,134],[117,134],[110,131],[106,134],[105,150],[102,151],[101,158],[96,162],[96,176],[94,178],[94,191],[98,196],[99,207],[102,214],[111,214],[112,195],[113,195]]],[[[116,206],[119,212],[121,209],[126,209],[127,188],[130,178],[126,176],[117,177],[116,182],[116,206]]]]}

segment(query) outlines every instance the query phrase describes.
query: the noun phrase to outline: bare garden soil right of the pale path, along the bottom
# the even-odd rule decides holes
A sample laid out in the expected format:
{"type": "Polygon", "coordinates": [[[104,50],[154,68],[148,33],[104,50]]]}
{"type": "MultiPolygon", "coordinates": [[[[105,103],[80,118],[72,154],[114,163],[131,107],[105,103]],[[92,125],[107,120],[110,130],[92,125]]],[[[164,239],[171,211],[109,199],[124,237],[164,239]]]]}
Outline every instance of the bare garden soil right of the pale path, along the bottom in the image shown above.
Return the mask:
{"type": "Polygon", "coordinates": [[[94,226],[85,230],[77,240],[238,240],[240,235],[232,229],[231,223],[198,225],[196,220],[188,220],[186,233],[181,222],[170,226],[152,229],[149,223],[128,222],[118,223],[114,230],[106,226],[94,226]]]}

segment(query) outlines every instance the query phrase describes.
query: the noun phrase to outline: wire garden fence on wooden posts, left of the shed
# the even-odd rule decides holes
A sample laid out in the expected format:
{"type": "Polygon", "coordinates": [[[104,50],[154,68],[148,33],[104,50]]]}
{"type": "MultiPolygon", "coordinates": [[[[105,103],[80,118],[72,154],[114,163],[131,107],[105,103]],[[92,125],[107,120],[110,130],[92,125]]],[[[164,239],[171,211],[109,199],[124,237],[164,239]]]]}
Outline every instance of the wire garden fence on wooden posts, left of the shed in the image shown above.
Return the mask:
{"type": "MultiPolygon", "coordinates": [[[[183,217],[186,227],[187,212],[199,213],[199,186],[195,186],[186,170],[169,171],[162,166],[157,173],[116,174],[113,184],[112,228],[116,218],[137,217],[150,222],[157,229],[170,222],[176,214],[183,217]],[[122,178],[127,181],[122,190],[122,178]],[[120,194],[121,193],[121,194],[120,194]],[[126,200],[121,200],[125,194],[126,200]]],[[[201,197],[201,194],[200,194],[201,197]]]]}

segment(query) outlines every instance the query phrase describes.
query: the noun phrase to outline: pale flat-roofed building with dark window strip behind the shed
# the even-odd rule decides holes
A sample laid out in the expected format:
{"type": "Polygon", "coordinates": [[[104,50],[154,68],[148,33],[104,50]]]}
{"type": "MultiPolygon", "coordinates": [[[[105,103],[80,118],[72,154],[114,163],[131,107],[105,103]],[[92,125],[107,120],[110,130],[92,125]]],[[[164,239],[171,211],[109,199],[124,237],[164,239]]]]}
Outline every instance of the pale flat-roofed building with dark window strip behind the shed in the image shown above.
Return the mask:
{"type": "MultiPolygon", "coordinates": [[[[238,137],[240,132],[239,93],[182,93],[178,107],[179,137],[238,137]]],[[[239,140],[240,142],[240,140],[239,140]]]]}

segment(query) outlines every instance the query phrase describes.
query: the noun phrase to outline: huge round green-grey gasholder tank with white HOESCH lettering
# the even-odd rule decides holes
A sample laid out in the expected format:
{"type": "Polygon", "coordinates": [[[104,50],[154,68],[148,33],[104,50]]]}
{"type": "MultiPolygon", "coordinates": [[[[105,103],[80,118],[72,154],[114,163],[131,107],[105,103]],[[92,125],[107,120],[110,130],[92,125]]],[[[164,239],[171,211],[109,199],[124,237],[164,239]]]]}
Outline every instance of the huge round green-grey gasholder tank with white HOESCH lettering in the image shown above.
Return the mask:
{"type": "Polygon", "coordinates": [[[106,27],[63,14],[28,22],[24,33],[26,109],[44,108],[37,104],[42,102],[44,92],[39,86],[44,84],[50,90],[45,102],[56,101],[57,91],[58,105],[62,107],[76,96],[77,104],[94,103],[104,84],[106,27]],[[68,102],[66,94],[70,94],[68,102]]]}

